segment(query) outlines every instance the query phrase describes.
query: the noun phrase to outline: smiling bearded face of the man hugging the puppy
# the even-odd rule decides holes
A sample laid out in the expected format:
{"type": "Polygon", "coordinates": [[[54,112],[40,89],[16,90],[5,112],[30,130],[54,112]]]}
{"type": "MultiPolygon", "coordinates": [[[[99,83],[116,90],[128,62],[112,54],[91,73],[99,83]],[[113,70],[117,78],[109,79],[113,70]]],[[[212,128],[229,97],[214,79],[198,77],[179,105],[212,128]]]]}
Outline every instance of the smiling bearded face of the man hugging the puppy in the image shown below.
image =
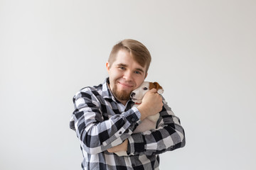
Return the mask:
{"type": "Polygon", "coordinates": [[[129,100],[134,89],[137,89],[146,78],[146,66],[142,67],[132,59],[126,50],[117,52],[116,60],[107,62],[110,75],[110,89],[114,96],[123,104],[129,100]]]}

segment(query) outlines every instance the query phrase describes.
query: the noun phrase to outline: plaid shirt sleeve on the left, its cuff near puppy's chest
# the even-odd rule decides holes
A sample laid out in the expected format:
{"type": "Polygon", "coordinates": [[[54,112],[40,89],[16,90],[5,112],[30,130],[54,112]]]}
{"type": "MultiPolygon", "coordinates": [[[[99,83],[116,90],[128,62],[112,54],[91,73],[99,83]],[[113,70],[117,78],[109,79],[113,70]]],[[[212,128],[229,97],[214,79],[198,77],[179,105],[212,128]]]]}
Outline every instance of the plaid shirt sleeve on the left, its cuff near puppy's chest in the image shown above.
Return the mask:
{"type": "Polygon", "coordinates": [[[104,152],[121,144],[132,135],[141,116],[137,108],[110,114],[112,108],[99,96],[97,91],[82,89],[73,98],[75,111],[70,128],[76,131],[82,149],[88,154],[104,152]],[[108,118],[108,115],[113,116],[108,118]]]}

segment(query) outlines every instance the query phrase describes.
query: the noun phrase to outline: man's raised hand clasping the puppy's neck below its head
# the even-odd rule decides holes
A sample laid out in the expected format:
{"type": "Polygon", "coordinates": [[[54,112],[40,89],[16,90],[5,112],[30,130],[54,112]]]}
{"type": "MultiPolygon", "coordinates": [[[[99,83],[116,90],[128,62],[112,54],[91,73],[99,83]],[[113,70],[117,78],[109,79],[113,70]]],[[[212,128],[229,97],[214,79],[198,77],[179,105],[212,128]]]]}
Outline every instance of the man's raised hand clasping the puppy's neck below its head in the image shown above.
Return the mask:
{"type": "Polygon", "coordinates": [[[149,115],[155,115],[162,110],[163,101],[159,94],[157,94],[156,89],[151,89],[146,92],[145,96],[142,98],[142,104],[137,108],[139,112],[142,113],[141,120],[144,120],[149,115]]]}

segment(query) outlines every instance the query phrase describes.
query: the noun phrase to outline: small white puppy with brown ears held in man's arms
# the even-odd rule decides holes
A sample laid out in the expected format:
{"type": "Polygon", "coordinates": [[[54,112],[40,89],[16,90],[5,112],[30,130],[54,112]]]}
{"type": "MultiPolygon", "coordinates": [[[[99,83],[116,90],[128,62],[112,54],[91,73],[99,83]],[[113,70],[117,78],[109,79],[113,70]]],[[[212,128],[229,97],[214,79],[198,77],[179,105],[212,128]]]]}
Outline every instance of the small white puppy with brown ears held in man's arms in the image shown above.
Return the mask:
{"type": "MultiPolygon", "coordinates": [[[[151,89],[156,89],[158,94],[163,94],[164,89],[157,83],[157,82],[149,82],[144,81],[139,88],[135,89],[131,93],[132,101],[134,101],[134,106],[139,106],[140,103],[142,103],[142,98],[146,94],[146,91],[149,91],[151,89]]],[[[159,120],[159,113],[156,113],[156,115],[149,115],[144,120],[142,120],[142,123],[140,123],[137,128],[134,130],[133,133],[139,133],[139,132],[145,132],[146,130],[152,130],[156,129],[156,122],[159,120]]],[[[121,156],[127,156],[127,152],[115,152],[119,157],[121,156]]]]}

